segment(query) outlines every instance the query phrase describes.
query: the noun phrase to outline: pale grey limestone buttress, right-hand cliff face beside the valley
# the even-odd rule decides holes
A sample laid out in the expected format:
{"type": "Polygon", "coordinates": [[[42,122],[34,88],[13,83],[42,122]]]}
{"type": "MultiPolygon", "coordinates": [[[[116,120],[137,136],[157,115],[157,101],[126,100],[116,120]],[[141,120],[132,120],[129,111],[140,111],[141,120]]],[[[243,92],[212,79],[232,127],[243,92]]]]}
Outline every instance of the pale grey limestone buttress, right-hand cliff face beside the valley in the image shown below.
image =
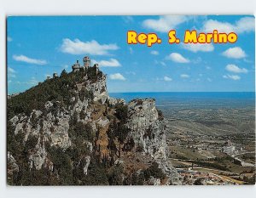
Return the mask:
{"type": "MultiPolygon", "coordinates": [[[[168,162],[166,131],[163,122],[160,122],[154,99],[134,99],[128,104],[127,127],[131,130],[130,136],[135,145],[159,164],[166,173],[166,184],[181,184],[181,176],[168,162]]],[[[152,178],[152,184],[160,184],[152,178]]]]}

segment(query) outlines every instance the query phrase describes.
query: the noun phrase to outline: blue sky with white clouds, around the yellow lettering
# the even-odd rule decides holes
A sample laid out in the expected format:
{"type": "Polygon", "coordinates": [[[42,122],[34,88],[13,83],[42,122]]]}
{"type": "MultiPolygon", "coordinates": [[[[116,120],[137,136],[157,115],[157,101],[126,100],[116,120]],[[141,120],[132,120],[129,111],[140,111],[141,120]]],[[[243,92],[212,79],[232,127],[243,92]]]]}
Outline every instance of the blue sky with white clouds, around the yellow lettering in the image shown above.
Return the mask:
{"type": "Polygon", "coordinates": [[[8,92],[23,92],[53,72],[71,71],[85,55],[108,74],[108,92],[254,91],[254,17],[8,17],[8,92]],[[175,29],[235,31],[233,44],[168,44],[175,29]],[[161,44],[128,45],[129,30],[155,32],[161,44]]]}

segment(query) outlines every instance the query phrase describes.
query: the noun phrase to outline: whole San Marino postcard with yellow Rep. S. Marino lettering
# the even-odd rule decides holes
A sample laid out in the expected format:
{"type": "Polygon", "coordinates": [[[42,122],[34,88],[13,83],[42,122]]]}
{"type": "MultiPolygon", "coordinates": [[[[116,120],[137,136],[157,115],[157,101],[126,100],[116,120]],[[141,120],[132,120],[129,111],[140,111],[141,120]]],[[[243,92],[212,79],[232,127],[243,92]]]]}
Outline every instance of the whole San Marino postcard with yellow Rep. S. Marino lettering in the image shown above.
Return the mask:
{"type": "Polygon", "coordinates": [[[7,184],[255,184],[253,15],[7,17],[7,184]]]}

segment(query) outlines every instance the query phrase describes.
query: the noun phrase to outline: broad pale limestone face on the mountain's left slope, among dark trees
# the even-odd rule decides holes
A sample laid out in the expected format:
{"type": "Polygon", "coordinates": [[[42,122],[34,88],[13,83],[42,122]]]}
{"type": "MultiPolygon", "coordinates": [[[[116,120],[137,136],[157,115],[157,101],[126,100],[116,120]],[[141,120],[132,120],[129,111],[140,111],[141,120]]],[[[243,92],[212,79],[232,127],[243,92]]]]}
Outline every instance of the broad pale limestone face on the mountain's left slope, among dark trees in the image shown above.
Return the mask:
{"type": "Polygon", "coordinates": [[[52,113],[55,110],[45,105],[46,115],[43,119],[43,112],[33,110],[30,116],[20,114],[10,119],[12,125],[15,126],[15,134],[25,133],[25,139],[29,135],[43,135],[44,141],[49,141],[51,145],[57,145],[61,148],[67,148],[71,145],[68,138],[70,115],[66,110],[56,110],[55,115],[52,113]],[[52,112],[51,112],[52,111],[52,112]]]}

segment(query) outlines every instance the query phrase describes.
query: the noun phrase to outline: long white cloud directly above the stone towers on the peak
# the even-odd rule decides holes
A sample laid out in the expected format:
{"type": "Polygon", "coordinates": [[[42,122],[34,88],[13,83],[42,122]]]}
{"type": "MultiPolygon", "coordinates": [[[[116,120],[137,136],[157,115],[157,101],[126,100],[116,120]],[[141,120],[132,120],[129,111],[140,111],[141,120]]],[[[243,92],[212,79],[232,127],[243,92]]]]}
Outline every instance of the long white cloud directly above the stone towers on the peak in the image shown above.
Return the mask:
{"type": "Polygon", "coordinates": [[[100,44],[95,40],[90,42],[82,42],[79,39],[70,40],[64,38],[61,44],[61,52],[67,54],[90,54],[90,55],[106,55],[110,50],[117,50],[116,44],[100,44]]]}

